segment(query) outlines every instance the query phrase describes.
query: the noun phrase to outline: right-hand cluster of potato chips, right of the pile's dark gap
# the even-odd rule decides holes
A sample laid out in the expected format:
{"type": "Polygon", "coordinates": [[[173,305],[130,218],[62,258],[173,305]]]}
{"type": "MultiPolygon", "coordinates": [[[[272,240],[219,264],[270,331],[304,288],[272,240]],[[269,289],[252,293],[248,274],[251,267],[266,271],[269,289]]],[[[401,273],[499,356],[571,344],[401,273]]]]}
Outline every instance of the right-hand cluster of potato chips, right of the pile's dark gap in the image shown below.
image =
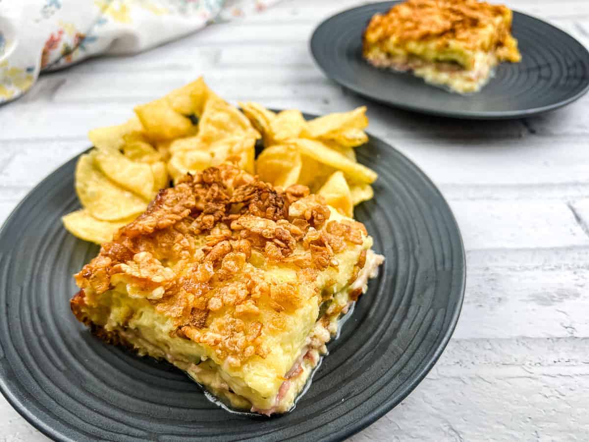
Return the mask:
{"type": "Polygon", "coordinates": [[[257,103],[240,107],[264,140],[256,160],[261,180],[282,187],[305,184],[350,217],[356,204],[373,197],[376,173],[358,163],[353,150],[368,141],[365,106],[309,121],[294,109],[274,113],[257,103]]]}

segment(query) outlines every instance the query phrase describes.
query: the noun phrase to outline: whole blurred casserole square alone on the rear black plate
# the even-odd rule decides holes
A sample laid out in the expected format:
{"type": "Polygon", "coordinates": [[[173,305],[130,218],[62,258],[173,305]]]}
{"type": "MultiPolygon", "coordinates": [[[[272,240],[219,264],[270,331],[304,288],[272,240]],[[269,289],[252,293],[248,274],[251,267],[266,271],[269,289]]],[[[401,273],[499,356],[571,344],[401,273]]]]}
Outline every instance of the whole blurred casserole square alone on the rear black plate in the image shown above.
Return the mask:
{"type": "Polygon", "coordinates": [[[363,57],[376,67],[412,71],[428,83],[473,93],[495,65],[521,60],[507,6],[477,0],[408,0],[375,14],[363,57]]]}

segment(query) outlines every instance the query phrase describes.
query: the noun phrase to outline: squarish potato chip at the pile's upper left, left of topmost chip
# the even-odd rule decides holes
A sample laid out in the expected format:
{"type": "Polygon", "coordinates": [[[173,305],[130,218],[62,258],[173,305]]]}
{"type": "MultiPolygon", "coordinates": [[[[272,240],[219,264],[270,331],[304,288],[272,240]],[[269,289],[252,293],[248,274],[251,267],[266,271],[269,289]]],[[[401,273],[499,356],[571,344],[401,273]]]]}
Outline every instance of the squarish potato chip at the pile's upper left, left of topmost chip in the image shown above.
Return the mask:
{"type": "Polygon", "coordinates": [[[176,112],[163,98],[135,106],[135,114],[145,133],[155,141],[185,137],[195,130],[190,118],[176,112]]]}

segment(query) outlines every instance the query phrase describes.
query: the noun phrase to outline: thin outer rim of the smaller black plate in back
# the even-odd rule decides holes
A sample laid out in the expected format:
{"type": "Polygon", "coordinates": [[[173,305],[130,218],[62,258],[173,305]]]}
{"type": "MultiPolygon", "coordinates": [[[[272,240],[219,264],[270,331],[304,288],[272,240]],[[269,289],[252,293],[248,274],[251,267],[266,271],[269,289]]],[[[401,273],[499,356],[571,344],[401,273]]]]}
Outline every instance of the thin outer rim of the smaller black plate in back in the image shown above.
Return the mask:
{"type": "MultiPolygon", "coordinates": [[[[367,4],[354,6],[353,8],[345,9],[343,11],[337,12],[337,14],[330,15],[326,19],[323,19],[323,21],[321,21],[313,29],[313,32],[312,32],[311,37],[309,38],[309,42],[308,42],[309,52],[311,53],[311,55],[313,57],[313,61],[315,62],[316,67],[318,67],[319,70],[323,73],[323,75],[325,75],[325,77],[327,77],[329,80],[334,81],[335,83],[339,84],[340,86],[345,87],[346,89],[352,91],[355,94],[360,95],[361,97],[364,97],[364,98],[371,100],[371,101],[375,101],[376,103],[380,103],[380,104],[386,105],[388,107],[398,108],[401,110],[411,111],[411,112],[415,112],[415,113],[419,113],[419,114],[431,115],[431,116],[436,116],[436,117],[455,118],[455,119],[459,119],[459,120],[513,120],[515,118],[527,118],[527,117],[531,117],[534,115],[543,114],[546,112],[557,110],[561,107],[564,107],[568,104],[573,103],[574,101],[577,101],[579,98],[583,97],[583,95],[587,94],[587,92],[589,92],[589,79],[588,79],[587,84],[585,84],[583,90],[581,90],[577,94],[573,95],[573,97],[569,97],[566,100],[558,101],[557,103],[548,104],[545,106],[534,107],[534,108],[524,109],[524,110],[517,110],[517,111],[487,111],[487,112],[481,112],[481,111],[459,111],[459,112],[457,112],[457,111],[443,111],[443,110],[436,110],[436,109],[427,109],[427,108],[423,108],[423,107],[412,105],[412,104],[397,102],[394,100],[384,100],[379,97],[368,95],[368,94],[360,91],[359,88],[355,84],[351,83],[350,81],[336,79],[336,78],[332,77],[332,75],[329,75],[326,72],[326,70],[323,68],[323,65],[320,62],[320,59],[317,57],[317,53],[316,53],[317,51],[315,48],[316,44],[317,44],[316,41],[318,38],[317,31],[319,31],[319,29],[321,27],[326,25],[327,22],[329,22],[330,20],[335,19],[335,18],[339,17],[340,15],[348,14],[349,12],[355,11],[356,9],[366,8],[368,6],[379,6],[379,5],[393,6],[395,4],[402,3],[403,1],[404,0],[392,0],[392,1],[389,0],[389,1],[381,1],[381,2],[370,2],[367,4]]],[[[541,22],[542,24],[548,25],[551,28],[556,29],[558,32],[561,32],[562,34],[567,35],[568,38],[573,39],[573,41],[575,41],[581,48],[583,48],[583,50],[585,51],[585,54],[587,55],[587,61],[589,62],[589,48],[585,47],[585,45],[583,43],[581,43],[580,41],[578,41],[578,39],[573,37],[573,35],[569,34],[568,32],[564,31],[563,29],[551,24],[550,22],[542,20],[539,17],[535,17],[534,15],[525,14],[524,12],[520,12],[517,9],[511,9],[511,11],[513,12],[514,15],[517,14],[517,15],[522,15],[527,18],[531,18],[537,22],[541,22]]]]}

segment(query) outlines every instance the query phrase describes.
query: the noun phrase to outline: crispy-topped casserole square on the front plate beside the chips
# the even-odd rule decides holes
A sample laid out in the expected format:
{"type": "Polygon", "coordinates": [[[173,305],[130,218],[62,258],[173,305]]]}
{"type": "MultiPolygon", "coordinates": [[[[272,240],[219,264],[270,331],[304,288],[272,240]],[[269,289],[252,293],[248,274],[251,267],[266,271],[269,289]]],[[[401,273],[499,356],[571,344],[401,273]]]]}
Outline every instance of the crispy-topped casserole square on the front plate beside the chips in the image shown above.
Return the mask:
{"type": "Polygon", "coordinates": [[[371,247],[307,187],[221,164],[161,190],[104,243],[75,275],[71,308],[231,409],[284,413],[382,262],[371,247]]]}

